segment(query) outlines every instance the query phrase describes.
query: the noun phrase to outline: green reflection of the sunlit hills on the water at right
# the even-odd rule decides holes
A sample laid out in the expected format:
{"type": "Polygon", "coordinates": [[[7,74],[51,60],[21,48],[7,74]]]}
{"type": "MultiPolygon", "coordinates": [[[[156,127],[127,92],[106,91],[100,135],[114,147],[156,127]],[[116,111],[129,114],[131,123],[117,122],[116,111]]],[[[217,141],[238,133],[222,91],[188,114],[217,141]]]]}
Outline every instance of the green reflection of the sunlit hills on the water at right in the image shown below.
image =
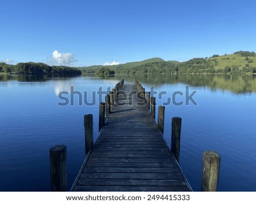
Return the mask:
{"type": "MultiPolygon", "coordinates": [[[[94,78],[94,75],[90,77],[94,78]]],[[[98,79],[102,79],[97,77],[98,79]]],[[[97,79],[94,78],[94,79],[97,79]]],[[[212,90],[228,90],[235,94],[256,92],[256,75],[116,75],[115,78],[133,82],[137,79],[142,84],[162,86],[163,84],[184,83],[195,87],[210,87],[212,90]]],[[[104,77],[104,79],[113,79],[104,77]]]]}

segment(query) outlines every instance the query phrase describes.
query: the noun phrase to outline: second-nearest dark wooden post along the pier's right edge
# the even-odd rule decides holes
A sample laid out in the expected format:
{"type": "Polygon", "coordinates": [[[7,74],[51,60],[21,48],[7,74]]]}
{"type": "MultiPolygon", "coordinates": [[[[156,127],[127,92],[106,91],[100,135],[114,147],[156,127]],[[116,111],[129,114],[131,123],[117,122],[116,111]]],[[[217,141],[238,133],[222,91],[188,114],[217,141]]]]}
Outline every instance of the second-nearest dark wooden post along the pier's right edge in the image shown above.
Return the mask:
{"type": "Polygon", "coordinates": [[[174,154],[177,162],[180,157],[180,131],[181,131],[181,118],[172,118],[172,138],[171,138],[171,151],[174,154]]]}

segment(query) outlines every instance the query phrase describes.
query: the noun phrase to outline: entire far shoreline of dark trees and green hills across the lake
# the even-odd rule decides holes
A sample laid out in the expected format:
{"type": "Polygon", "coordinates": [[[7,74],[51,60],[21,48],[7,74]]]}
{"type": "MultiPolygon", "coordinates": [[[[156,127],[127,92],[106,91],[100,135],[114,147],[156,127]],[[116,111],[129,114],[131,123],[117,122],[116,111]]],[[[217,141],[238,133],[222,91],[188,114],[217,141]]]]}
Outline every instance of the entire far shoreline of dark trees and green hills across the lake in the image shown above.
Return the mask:
{"type": "Polygon", "coordinates": [[[61,74],[61,75],[134,75],[134,74],[256,74],[254,52],[238,51],[233,54],[193,58],[185,62],[164,61],[162,58],[129,62],[113,66],[67,67],[49,66],[43,63],[26,62],[16,65],[0,63],[0,73],[61,74]]]}

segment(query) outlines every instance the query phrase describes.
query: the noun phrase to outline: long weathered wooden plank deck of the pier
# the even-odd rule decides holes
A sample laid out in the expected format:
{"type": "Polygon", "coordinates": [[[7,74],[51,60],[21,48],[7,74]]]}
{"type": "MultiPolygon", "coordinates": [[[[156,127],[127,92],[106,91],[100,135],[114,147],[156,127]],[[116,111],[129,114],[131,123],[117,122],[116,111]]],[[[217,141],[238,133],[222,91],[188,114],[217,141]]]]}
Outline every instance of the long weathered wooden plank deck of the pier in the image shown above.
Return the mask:
{"type": "Polygon", "coordinates": [[[192,191],[134,84],[124,84],[71,191],[192,191]]]}

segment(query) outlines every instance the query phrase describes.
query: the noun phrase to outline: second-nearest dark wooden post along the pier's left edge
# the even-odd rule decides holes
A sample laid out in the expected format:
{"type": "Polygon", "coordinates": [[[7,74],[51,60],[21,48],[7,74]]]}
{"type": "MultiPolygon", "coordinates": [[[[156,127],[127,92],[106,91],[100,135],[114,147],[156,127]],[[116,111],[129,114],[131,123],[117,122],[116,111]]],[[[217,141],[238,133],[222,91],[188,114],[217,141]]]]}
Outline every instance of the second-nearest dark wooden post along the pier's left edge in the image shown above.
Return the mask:
{"type": "Polygon", "coordinates": [[[93,149],[93,115],[84,116],[85,154],[93,149]]]}

